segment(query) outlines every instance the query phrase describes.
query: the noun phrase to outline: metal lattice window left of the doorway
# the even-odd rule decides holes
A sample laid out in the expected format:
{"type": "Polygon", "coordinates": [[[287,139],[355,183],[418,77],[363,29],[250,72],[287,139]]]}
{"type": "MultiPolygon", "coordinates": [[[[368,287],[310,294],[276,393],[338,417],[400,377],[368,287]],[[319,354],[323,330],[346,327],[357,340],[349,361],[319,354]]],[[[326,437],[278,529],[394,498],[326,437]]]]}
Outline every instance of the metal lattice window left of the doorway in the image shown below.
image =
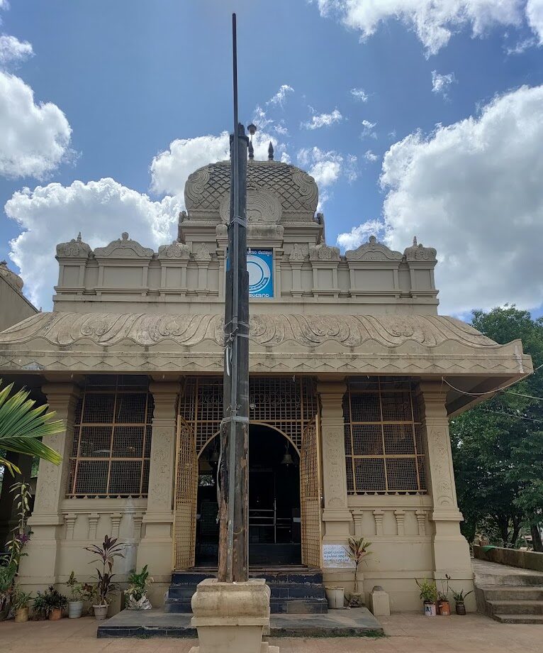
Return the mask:
{"type": "Polygon", "coordinates": [[[87,378],[75,411],[69,498],[147,496],[153,407],[146,376],[87,378]]]}

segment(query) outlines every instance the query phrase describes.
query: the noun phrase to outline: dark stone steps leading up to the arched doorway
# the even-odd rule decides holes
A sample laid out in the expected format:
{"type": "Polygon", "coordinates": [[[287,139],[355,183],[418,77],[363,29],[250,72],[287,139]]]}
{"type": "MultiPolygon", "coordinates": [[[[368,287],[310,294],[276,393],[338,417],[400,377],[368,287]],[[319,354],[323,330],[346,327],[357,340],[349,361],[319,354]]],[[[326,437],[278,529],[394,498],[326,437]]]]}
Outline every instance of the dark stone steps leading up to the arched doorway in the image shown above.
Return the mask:
{"type": "MultiPolygon", "coordinates": [[[[164,603],[166,613],[191,613],[191,598],[204,578],[215,578],[215,569],[174,571],[164,603]]],[[[250,578],[265,578],[271,591],[269,607],[272,614],[322,615],[328,612],[323,572],[308,567],[254,569],[250,578]]]]}

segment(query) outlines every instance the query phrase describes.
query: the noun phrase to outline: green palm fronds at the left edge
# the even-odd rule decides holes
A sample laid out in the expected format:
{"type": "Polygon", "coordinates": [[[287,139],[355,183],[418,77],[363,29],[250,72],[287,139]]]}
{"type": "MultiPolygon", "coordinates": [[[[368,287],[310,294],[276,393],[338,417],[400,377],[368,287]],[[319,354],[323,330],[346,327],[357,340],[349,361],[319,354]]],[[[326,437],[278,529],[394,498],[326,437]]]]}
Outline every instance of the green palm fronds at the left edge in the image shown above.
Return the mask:
{"type": "MultiPolygon", "coordinates": [[[[2,382],[0,379],[0,388],[2,382]]],[[[45,435],[60,433],[64,430],[62,419],[51,422],[55,412],[47,412],[49,406],[44,404],[34,408],[35,401],[28,399],[30,393],[24,388],[11,395],[13,383],[0,390],[0,449],[16,454],[38,456],[43,460],[58,465],[62,461],[55,449],[43,444],[40,438],[45,435]],[[11,396],[10,396],[11,395],[11,396]]],[[[9,469],[11,476],[21,470],[0,455],[0,465],[9,469]]]]}

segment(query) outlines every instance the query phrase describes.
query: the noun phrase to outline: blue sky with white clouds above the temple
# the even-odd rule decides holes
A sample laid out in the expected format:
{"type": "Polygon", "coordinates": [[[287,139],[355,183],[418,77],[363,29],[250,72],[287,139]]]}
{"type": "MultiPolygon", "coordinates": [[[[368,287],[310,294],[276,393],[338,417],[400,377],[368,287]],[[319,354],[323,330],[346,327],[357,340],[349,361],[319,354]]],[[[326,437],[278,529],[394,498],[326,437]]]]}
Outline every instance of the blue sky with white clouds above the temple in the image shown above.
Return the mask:
{"type": "Polygon", "coordinates": [[[0,257],[28,296],[50,307],[54,245],[80,230],[91,246],[173,237],[186,175],[231,129],[237,11],[240,118],[314,173],[329,243],[416,235],[442,259],[442,312],[541,314],[543,1],[390,4],[0,0],[0,33],[30,44],[4,41],[0,99],[0,257]],[[41,103],[56,109],[38,118],[41,103]]]}

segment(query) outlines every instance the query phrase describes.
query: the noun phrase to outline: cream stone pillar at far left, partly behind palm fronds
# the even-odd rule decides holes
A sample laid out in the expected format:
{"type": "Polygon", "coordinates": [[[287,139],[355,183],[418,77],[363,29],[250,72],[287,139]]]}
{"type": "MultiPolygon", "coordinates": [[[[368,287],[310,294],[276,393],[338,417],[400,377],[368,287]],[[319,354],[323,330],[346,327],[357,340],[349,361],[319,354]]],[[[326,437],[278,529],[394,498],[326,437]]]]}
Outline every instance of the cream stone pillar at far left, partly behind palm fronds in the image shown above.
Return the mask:
{"type": "Polygon", "coordinates": [[[62,500],[67,493],[69,456],[74,440],[74,416],[79,388],[74,383],[47,383],[42,388],[55,419],[62,419],[65,430],[43,439],[62,456],[60,465],[40,461],[34,510],[28,520],[33,535],[21,559],[19,578],[23,585],[43,586],[57,583],[60,540],[64,535],[62,500]]]}

